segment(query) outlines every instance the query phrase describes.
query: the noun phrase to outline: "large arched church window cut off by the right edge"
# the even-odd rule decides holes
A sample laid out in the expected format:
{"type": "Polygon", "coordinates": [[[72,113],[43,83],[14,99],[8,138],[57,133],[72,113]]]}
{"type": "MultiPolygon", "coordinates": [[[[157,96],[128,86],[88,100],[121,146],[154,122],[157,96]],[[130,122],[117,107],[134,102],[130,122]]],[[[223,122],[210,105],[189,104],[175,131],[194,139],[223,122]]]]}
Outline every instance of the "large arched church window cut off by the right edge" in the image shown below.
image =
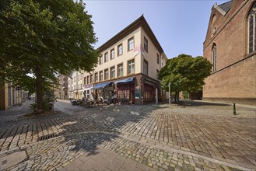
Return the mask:
{"type": "Polygon", "coordinates": [[[249,54],[256,51],[256,3],[252,6],[252,9],[248,16],[248,52],[249,54]]]}

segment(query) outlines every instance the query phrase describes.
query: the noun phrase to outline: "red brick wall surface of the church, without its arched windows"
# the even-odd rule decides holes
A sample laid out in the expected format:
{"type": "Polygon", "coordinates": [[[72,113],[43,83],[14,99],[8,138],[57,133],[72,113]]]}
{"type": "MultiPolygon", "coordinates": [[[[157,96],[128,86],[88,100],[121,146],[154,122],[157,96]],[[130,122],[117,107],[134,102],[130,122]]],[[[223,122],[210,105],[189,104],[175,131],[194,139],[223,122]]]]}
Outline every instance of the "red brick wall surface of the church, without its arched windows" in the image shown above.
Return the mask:
{"type": "Polygon", "coordinates": [[[226,16],[222,16],[215,8],[212,8],[209,30],[204,42],[204,57],[212,62],[212,46],[215,43],[217,72],[205,79],[203,99],[240,99],[241,103],[244,99],[244,103],[255,103],[256,57],[251,55],[251,58],[247,58],[246,20],[253,2],[255,1],[233,0],[231,9],[226,16]],[[217,17],[217,31],[212,37],[213,15],[217,17]],[[247,59],[241,61],[244,58],[247,59]],[[241,62],[233,65],[237,61],[241,62]],[[223,70],[218,72],[221,69],[223,70]]]}

